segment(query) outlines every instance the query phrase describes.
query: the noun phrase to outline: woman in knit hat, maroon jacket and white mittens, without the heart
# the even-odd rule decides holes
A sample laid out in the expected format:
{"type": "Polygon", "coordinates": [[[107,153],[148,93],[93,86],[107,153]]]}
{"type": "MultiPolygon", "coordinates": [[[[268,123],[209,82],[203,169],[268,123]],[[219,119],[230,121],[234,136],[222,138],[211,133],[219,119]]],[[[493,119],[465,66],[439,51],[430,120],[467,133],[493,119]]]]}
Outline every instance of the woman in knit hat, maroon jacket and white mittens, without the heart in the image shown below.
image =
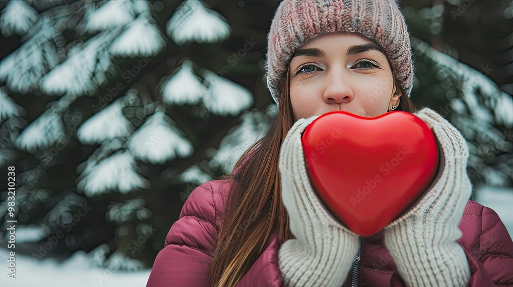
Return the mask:
{"type": "Polygon", "coordinates": [[[147,286],[513,285],[513,243],[497,214],[468,200],[468,148],[409,99],[413,64],[394,0],[285,0],[268,35],[267,83],[279,113],[232,175],[196,188],[147,286]],[[415,113],[442,148],[429,190],[361,238],[322,208],[301,133],[319,115],[415,113]]]}

